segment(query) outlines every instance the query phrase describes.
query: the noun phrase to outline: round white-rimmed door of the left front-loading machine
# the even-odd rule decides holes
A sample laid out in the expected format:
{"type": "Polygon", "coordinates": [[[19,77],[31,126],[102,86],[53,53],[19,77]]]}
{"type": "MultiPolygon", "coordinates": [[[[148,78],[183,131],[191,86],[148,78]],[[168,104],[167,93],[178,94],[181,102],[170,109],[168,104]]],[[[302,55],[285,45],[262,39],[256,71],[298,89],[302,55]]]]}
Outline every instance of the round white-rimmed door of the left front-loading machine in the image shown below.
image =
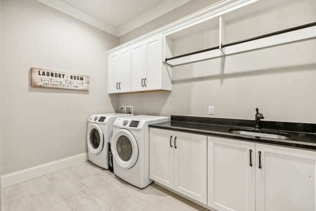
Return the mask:
{"type": "Polygon", "coordinates": [[[87,141],[89,151],[95,155],[99,154],[104,145],[103,132],[97,124],[91,124],[87,131],[87,141]]]}

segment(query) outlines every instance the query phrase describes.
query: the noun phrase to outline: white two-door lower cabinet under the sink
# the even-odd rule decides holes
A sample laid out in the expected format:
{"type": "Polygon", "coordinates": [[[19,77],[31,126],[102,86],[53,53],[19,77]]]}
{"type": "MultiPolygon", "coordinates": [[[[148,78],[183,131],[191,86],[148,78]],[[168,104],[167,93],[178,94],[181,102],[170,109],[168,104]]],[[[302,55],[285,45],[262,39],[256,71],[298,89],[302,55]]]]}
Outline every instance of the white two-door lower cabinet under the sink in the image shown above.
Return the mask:
{"type": "Polygon", "coordinates": [[[316,210],[316,152],[211,136],[207,140],[209,207],[316,210]]]}

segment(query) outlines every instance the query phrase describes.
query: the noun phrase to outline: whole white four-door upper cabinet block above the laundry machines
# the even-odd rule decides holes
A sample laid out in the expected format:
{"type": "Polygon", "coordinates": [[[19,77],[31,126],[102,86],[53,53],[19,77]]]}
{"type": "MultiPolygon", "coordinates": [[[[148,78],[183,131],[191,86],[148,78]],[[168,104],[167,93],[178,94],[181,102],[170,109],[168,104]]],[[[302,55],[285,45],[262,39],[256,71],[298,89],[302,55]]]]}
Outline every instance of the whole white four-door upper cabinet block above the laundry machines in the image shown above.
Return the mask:
{"type": "Polygon", "coordinates": [[[109,93],[171,90],[171,67],[162,58],[161,36],[110,53],[109,93]]]}

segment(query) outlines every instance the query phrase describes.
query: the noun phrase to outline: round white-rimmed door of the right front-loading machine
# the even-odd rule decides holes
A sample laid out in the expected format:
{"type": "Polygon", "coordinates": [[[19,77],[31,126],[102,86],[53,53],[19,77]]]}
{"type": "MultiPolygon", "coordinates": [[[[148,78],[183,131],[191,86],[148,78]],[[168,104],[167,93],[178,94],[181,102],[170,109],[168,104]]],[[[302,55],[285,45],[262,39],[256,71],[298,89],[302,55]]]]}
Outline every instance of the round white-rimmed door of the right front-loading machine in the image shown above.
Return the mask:
{"type": "Polygon", "coordinates": [[[132,168],[138,159],[138,145],[134,135],[127,129],[118,129],[111,140],[114,159],[123,169],[132,168]]]}

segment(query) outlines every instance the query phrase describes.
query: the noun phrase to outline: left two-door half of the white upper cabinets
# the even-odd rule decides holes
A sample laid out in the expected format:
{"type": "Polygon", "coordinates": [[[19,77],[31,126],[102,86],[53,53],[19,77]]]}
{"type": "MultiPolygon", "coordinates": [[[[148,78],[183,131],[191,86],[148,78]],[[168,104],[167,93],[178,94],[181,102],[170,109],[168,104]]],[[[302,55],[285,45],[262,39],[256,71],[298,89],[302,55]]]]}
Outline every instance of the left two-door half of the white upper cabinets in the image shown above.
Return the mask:
{"type": "Polygon", "coordinates": [[[108,55],[109,93],[130,91],[130,48],[124,48],[108,55]]]}

